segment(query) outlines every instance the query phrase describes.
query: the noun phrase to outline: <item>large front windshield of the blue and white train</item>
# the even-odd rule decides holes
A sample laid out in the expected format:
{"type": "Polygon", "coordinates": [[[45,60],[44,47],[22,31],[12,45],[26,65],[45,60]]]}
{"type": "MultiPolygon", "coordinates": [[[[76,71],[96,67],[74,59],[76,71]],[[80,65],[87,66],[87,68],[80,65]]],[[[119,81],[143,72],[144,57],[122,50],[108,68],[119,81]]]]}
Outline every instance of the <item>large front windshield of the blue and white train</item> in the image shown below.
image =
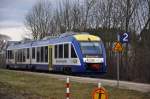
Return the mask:
{"type": "Polygon", "coordinates": [[[102,47],[100,42],[80,42],[84,57],[101,57],[102,47]]]}

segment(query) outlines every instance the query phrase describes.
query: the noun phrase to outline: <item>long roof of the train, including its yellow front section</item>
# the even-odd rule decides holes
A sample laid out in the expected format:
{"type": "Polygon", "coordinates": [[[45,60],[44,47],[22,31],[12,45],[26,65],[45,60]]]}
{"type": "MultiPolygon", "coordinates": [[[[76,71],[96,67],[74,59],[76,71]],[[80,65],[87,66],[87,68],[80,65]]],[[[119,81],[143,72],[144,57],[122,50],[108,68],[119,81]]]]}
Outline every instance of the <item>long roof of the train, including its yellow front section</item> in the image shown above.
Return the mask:
{"type": "Polygon", "coordinates": [[[97,36],[90,35],[89,33],[64,33],[60,36],[53,38],[44,38],[43,40],[28,41],[28,42],[18,42],[18,44],[12,44],[8,46],[7,50],[11,49],[21,49],[21,48],[30,48],[38,46],[46,46],[48,44],[57,44],[62,42],[72,42],[73,40],[85,41],[85,40],[96,40],[100,41],[101,39],[97,36]]]}

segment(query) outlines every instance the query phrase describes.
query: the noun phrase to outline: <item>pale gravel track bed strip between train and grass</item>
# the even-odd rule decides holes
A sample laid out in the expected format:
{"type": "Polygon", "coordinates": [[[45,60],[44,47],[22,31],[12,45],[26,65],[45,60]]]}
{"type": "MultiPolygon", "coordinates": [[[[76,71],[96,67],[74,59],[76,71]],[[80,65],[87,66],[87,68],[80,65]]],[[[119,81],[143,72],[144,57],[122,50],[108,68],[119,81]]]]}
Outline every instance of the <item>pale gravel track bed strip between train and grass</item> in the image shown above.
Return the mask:
{"type": "MultiPolygon", "coordinates": [[[[72,75],[64,75],[64,74],[58,74],[58,73],[52,73],[52,72],[46,73],[46,72],[30,72],[30,71],[18,71],[18,70],[12,70],[12,71],[18,72],[18,73],[32,74],[32,75],[48,76],[48,77],[52,77],[52,78],[57,78],[59,80],[66,80],[66,76],[69,76],[70,80],[74,81],[74,82],[94,83],[94,84],[101,82],[102,86],[111,86],[111,87],[117,86],[116,80],[91,78],[91,77],[85,76],[85,75],[81,75],[81,77],[79,77],[78,75],[72,76],[72,75]]],[[[92,77],[94,77],[94,76],[92,76],[92,77]]],[[[136,91],[140,91],[140,92],[150,92],[150,84],[120,81],[119,85],[120,85],[119,88],[122,88],[122,89],[130,89],[130,90],[136,90],[136,91]]]]}

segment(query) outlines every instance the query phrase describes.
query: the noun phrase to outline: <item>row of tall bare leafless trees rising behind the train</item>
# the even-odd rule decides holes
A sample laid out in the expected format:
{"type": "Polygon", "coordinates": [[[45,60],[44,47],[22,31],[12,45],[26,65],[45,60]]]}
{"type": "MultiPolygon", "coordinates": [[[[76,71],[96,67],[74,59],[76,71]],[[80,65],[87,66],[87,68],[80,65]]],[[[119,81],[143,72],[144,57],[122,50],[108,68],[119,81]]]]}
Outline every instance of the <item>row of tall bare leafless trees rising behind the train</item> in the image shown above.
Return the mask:
{"type": "MultiPolygon", "coordinates": [[[[150,28],[150,0],[48,0],[37,2],[25,17],[33,39],[66,31],[104,31],[113,40],[116,32],[141,34],[150,28]],[[108,31],[108,32],[107,32],[108,31]]],[[[95,32],[93,31],[93,32],[95,32]]]]}

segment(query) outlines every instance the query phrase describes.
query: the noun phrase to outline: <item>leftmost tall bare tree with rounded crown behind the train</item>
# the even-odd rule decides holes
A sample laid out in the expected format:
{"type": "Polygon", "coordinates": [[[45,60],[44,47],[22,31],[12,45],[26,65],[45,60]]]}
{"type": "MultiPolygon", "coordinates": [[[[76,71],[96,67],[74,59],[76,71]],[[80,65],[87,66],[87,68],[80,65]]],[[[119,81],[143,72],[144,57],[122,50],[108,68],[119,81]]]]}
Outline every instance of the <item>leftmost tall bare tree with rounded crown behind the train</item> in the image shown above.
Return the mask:
{"type": "Polygon", "coordinates": [[[26,15],[25,25],[34,39],[42,39],[48,35],[52,21],[51,10],[50,2],[39,1],[26,15]]]}

